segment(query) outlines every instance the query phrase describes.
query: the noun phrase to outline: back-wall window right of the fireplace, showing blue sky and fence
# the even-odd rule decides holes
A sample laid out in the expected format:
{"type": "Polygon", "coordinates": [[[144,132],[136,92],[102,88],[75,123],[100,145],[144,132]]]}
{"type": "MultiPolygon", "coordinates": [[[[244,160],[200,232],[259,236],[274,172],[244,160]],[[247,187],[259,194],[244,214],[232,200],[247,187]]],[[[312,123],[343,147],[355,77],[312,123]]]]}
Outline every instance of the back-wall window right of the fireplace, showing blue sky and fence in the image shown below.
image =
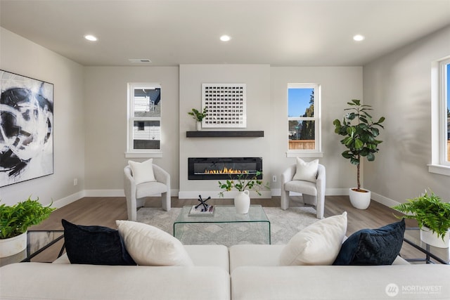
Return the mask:
{"type": "MultiPolygon", "coordinates": [[[[321,152],[320,90],[317,84],[288,84],[288,153],[321,152]]],[[[289,157],[290,155],[288,155],[289,157]]]]}

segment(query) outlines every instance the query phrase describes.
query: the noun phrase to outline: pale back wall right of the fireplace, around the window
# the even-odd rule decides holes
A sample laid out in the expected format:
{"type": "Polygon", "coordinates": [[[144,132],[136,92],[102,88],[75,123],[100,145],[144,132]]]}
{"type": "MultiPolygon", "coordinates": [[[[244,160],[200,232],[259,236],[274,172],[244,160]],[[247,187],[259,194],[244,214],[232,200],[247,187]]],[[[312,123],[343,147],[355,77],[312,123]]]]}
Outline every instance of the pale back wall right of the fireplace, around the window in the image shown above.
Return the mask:
{"type": "MultiPolygon", "coordinates": [[[[356,185],[356,168],[341,156],[344,146],[334,133],[333,120],[342,119],[347,102],[361,99],[362,67],[271,67],[271,168],[278,176],[295,158],[287,158],[288,83],[321,85],[322,152],[319,162],[326,167],[327,195],[345,195],[356,185]]],[[[304,160],[314,159],[304,158],[304,160]]],[[[274,188],[280,188],[279,181],[274,188]]]]}

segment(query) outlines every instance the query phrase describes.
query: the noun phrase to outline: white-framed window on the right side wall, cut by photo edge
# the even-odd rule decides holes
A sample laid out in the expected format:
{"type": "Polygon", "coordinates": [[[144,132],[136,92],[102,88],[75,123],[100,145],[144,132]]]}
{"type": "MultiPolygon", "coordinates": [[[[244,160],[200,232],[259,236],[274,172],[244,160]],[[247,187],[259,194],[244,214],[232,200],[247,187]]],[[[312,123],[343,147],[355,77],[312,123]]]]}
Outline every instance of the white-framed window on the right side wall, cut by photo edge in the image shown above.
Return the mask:
{"type": "Polygon", "coordinates": [[[450,57],[432,65],[432,164],[429,171],[450,176],[450,57]]]}

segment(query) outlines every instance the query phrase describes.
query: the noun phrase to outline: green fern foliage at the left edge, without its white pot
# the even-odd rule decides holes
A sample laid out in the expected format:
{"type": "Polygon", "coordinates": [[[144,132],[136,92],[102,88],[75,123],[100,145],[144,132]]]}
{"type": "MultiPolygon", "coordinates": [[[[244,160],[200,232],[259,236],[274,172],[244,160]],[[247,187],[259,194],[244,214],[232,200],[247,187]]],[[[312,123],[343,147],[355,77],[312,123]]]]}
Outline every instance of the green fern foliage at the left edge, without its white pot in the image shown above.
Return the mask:
{"type": "MultiPolygon", "coordinates": [[[[51,202],[53,204],[53,202],[51,202]]],[[[56,208],[43,207],[36,200],[31,200],[31,196],[23,202],[18,202],[13,206],[0,205],[0,239],[7,239],[25,233],[30,226],[37,225],[47,219],[56,208]]]]}

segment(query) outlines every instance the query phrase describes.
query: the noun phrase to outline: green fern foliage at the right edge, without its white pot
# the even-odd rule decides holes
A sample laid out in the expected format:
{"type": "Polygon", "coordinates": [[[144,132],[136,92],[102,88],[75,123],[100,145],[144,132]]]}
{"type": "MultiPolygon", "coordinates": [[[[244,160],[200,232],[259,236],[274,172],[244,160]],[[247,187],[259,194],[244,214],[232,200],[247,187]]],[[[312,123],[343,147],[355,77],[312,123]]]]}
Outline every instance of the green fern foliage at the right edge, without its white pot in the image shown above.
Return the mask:
{"type": "Polygon", "coordinates": [[[425,190],[425,195],[408,199],[408,202],[392,208],[406,214],[397,218],[415,219],[419,228],[429,228],[438,237],[442,237],[442,240],[450,228],[450,203],[442,202],[433,192],[428,195],[425,190]]]}

